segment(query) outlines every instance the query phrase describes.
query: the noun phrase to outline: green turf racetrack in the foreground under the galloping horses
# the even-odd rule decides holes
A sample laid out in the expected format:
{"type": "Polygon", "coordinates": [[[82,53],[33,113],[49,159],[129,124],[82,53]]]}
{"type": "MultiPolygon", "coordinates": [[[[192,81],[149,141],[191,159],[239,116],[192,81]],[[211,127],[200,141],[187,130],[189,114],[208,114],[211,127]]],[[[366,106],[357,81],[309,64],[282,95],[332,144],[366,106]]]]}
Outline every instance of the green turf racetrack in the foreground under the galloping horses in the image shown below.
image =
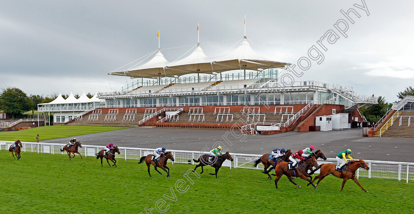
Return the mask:
{"type": "MultiPolygon", "coordinates": [[[[121,153],[122,157],[122,153],[121,153]]],[[[169,164],[171,178],[161,176],[137,160],[118,158],[118,168],[110,168],[94,157],[69,161],[67,155],[22,153],[15,161],[8,151],[0,151],[0,210],[2,213],[140,213],[163,199],[169,213],[404,213],[414,209],[414,182],[380,178],[360,178],[365,193],[352,180],[340,192],[342,179],[328,176],[318,189],[295,187],[283,176],[275,188],[259,170],[220,169],[218,179],[208,175],[190,175],[185,193],[174,185],[194,165],[169,164]],[[172,196],[173,188],[176,201],[172,196]],[[296,211],[295,211],[296,209],[296,211]]],[[[198,173],[201,171],[198,169],[198,173]]],[[[165,174],[165,173],[164,173],[165,174]]],[[[164,205],[163,209],[166,208],[164,205]]]]}

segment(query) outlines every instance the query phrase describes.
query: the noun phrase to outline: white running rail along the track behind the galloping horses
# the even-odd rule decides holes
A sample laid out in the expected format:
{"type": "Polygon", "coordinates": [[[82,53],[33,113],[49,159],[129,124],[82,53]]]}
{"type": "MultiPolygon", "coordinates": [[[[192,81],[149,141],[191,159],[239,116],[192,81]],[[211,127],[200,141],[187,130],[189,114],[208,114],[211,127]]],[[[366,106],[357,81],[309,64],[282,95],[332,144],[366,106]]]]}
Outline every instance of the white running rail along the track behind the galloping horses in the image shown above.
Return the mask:
{"type": "MultiPolygon", "coordinates": [[[[14,142],[11,141],[0,141],[0,150],[8,150],[8,147],[14,142]]],[[[37,152],[37,153],[51,153],[51,154],[67,154],[65,151],[61,152],[60,149],[66,144],[63,143],[29,143],[22,142],[23,152],[37,152]]],[[[123,158],[125,160],[139,160],[142,156],[152,154],[154,149],[151,148],[131,148],[131,147],[118,147],[121,154],[116,154],[117,158],[123,158]]],[[[104,149],[104,146],[98,145],[82,145],[82,148],[78,148],[79,153],[82,156],[96,156],[96,153],[104,149]]],[[[174,163],[191,163],[194,164],[193,159],[197,159],[202,154],[208,152],[200,151],[185,151],[185,150],[169,150],[173,153],[174,163]]],[[[234,168],[245,168],[245,169],[263,169],[263,165],[260,163],[257,167],[253,167],[253,163],[257,158],[262,155],[258,154],[240,154],[230,153],[234,159],[233,163],[226,160],[223,166],[234,167],[234,168]]],[[[10,156],[11,158],[11,156],[10,156]]],[[[170,160],[169,160],[170,161],[170,160]]],[[[171,162],[171,161],[170,161],[171,162]]],[[[367,178],[389,178],[406,180],[414,180],[414,163],[407,162],[391,162],[391,161],[373,161],[365,160],[370,167],[370,170],[358,169],[356,172],[357,177],[367,178]]],[[[334,163],[337,164],[335,158],[328,158],[327,160],[318,160],[318,164],[323,163],[334,163]]],[[[319,173],[316,171],[316,173],[319,173]]]]}

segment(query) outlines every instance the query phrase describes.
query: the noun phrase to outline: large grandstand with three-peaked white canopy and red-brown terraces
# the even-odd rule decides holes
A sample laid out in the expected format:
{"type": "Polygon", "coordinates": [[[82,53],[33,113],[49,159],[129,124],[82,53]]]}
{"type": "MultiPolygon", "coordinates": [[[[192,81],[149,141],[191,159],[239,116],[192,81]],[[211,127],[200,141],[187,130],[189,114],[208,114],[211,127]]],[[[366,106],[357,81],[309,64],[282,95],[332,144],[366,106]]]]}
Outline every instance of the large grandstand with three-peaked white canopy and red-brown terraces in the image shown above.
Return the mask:
{"type": "Polygon", "coordinates": [[[332,109],[348,113],[348,123],[361,121],[357,108],[377,103],[376,97],[348,86],[319,81],[286,84],[279,75],[285,75],[289,65],[254,52],[246,36],[236,50],[218,57],[207,57],[200,43],[174,62],[158,49],[136,68],[108,73],[134,82],[122,91],[99,93],[104,103],[64,123],[217,129],[236,125],[248,134],[272,134],[309,131],[315,116],[331,114],[332,109]],[[86,114],[94,114],[94,119],[83,119],[86,114]]]}

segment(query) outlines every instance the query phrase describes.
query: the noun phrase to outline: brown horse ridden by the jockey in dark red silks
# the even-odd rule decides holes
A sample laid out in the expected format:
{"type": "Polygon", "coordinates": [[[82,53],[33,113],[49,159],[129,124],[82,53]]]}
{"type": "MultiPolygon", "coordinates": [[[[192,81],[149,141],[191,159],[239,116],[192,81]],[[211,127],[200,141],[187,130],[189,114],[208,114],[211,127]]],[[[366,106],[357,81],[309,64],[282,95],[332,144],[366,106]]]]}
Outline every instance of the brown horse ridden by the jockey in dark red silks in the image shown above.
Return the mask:
{"type": "Polygon", "coordinates": [[[277,181],[280,179],[280,177],[282,177],[282,175],[285,175],[290,182],[292,182],[293,184],[295,184],[297,187],[301,187],[298,184],[296,184],[295,182],[293,182],[292,180],[292,176],[296,176],[299,178],[302,178],[304,180],[309,181],[312,186],[316,188],[315,185],[313,185],[313,183],[311,182],[312,177],[310,175],[308,175],[308,170],[311,169],[312,167],[318,167],[318,163],[316,162],[316,158],[313,156],[310,156],[307,160],[301,161],[298,164],[298,168],[294,169],[294,170],[289,170],[287,165],[289,163],[288,162],[281,162],[279,164],[276,165],[275,168],[275,172],[276,172],[276,179],[275,179],[275,185],[277,188],[277,181]],[[309,179],[311,178],[311,179],[309,179]]]}

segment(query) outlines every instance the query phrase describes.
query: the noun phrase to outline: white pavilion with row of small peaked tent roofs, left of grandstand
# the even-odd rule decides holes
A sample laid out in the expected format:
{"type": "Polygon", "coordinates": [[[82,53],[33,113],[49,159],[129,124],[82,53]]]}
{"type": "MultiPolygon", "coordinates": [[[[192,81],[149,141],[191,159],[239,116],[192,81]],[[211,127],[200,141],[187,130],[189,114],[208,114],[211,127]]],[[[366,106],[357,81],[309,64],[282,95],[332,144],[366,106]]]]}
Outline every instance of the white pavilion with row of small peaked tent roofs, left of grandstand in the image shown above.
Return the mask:
{"type": "Polygon", "coordinates": [[[83,92],[82,96],[76,99],[72,92],[65,100],[59,93],[59,96],[50,103],[38,104],[38,112],[53,112],[53,124],[61,124],[79,117],[101,105],[101,100],[95,94],[92,98],[88,98],[83,92]]]}

